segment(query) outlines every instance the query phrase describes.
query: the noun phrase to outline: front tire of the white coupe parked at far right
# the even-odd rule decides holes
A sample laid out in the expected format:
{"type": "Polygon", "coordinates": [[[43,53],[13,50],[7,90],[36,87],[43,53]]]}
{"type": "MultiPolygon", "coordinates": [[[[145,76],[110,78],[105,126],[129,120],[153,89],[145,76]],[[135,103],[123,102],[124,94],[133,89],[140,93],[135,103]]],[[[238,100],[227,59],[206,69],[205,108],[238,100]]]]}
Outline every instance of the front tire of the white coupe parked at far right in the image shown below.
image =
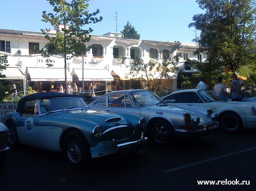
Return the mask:
{"type": "Polygon", "coordinates": [[[243,129],[243,121],[235,112],[224,112],[219,116],[219,125],[222,130],[236,132],[243,129]]]}

